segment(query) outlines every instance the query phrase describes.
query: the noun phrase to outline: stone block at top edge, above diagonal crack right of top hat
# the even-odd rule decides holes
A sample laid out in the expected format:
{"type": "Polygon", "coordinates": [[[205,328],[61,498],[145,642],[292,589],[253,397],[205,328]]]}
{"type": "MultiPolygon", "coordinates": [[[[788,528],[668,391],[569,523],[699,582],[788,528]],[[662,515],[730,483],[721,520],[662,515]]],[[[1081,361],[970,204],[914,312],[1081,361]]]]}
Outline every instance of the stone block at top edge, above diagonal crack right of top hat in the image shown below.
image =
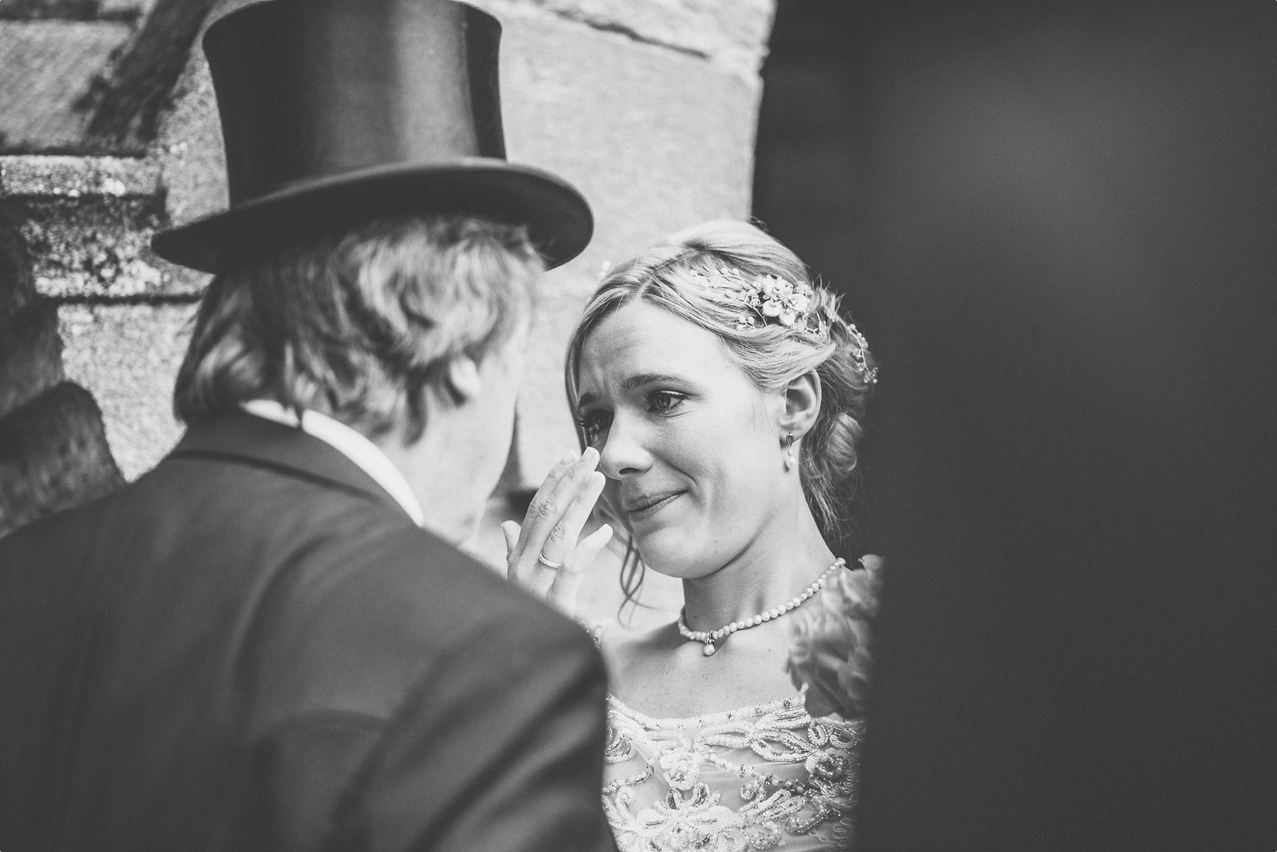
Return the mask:
{"type": "Polygon", "coordinates": [[[686,52],[755,82],[774,0],[476,0],[498,17],[538,8],[594,29],[686,52]]]}

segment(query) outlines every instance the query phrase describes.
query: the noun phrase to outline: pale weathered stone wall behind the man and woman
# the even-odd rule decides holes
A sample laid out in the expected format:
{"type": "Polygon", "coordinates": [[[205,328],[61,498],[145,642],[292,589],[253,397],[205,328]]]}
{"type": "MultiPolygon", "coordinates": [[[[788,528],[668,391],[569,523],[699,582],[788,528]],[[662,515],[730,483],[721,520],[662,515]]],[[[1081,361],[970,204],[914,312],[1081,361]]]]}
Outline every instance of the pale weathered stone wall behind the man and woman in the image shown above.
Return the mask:
{"type": "MultiPolygon", "coordinates": [[[[153,52],[153,45],[147,47],[151,52],[138,49],[155,38],[147,31],[148,15],[155,22],[171,14],[166,11],[171,0],[156,0],[153,8],[146,0],[125,4],[132,18],[119,11],[123,0],[114,3],[109,20],[84,20],[84,8],[105,8],[87,0],[61,6],[32,1],[27,5],[47,13],[29,15],[40,20],[0,20],[0,43],[26,46],[18,59],[17,49],[0,47],[4,89],[38,84],[57,95],[56,102],[49,101],[50,115],[32,114],[27,103],[26,112],[14,107],[9,119],[0,119],[8,121],[0,133],[3,149],[10,152],[0,157],[0,204],[9,215],[9,225],[0,226],[5,240],[0,323],[8,323],[0,324],[0,377],[14,388],[0,392],[0,427],[13,418],[26,423],[36,414],[49,418],[61,411],[23,413],[22,404],[60,387],[64,378],[87,390],[66,396],[77,402],[60,402],[80,406],[84,424],[96,424],[82,429],[98,436],[83,464],[103,470],[86,479],[97,484],[83,485],[83,497],[101,493],[121,474],[139,475],[179,436],[169,392],[186,321],[206,281],[157,259],[147,240],[158,227],[226,203],[216,105],[198,50],[185,59],[153,119],[116,123],[128,125],[125,135],[89,133],[88,114],[109,100],[102,92],[111,92],[112,69],[124,68],[130,56],[153,52]],[[79,19],[50,19],[63,6],[78,9],[79,19]],[[97,52],[89,55],[86,45],[97,52]],[[31,59],[40,51],[43,64],[31,59]],[[50,82],[59,68],[60,88],[50,82]],[[22,75],[29,79],[18,79],[22,75]],[[144,135],[148,123],[155,125],[151,138],[144,135]],[[133,156],[111,156],[121,153],[133,156]]],[[[244,0],[215,3],[204,24],[239,5],[244,0]]],[[[476,553],[501,563],[495,522],[517,515],[520,501],[553,461],[576,446],[562,395],[562,358],[604,263],[697,221],[750,212],[759,66],[774,1],[479,0],[476,5],[504,26],[502,101],[510,158],[564,176],[585,193],[596,216],[589,249],[547,276],[543,287],[504,493],[474,543],[476,553]]],[[[137,69],[130,73],[137,75],[137,69]]],[[[0,96],[0,114],[13,103],[15,95],[0,96]]],[[[13,446],[0,446],[0,452],[20,459],[28,471],[13,475],[34,475],[29,470],[43,462],[32,461],[26,445],[5,441],[13,446]]],[[[77,464],[77,456],[60,457],[77,464]]],[[[18,498],[0,499],[9,501],[0,503],[0,517],[8,519],[0,521],[0,531],[4,524],[31,516],[17,508],[18,498]]],[[[74,499],[49,506],[68,502],[74,499]]],[[[614,605],[613,584],[587,593],[598,608],[614,605]]]]}

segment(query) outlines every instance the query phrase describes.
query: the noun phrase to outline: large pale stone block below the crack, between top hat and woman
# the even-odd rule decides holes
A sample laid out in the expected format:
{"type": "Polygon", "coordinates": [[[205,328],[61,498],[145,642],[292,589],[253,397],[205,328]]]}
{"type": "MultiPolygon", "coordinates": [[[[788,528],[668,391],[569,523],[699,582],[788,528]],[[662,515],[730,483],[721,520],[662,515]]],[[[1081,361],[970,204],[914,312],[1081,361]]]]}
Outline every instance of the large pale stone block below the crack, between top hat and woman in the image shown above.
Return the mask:
{"type": "Polygon", "coordinates": [[[510,158],[576,184],[595,238],[549,273],[520,401],[520,482],[535,488],[576,436],[563,353],[604,262],[707,218],[750,213],[759,82],[710,61],[524,6],[502,8],[510,158]]]}

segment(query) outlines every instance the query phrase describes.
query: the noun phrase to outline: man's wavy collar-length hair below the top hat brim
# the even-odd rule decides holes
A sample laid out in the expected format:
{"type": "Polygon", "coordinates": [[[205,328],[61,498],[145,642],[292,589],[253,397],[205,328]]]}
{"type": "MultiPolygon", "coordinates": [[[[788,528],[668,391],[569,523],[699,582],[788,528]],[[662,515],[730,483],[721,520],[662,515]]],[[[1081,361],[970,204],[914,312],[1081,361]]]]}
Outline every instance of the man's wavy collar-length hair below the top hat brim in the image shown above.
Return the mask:
{"type": "Polygon", "coordinates": [[[544,262],[522,226],[397,217],[213,278],[178,373],[188,424],[246,400],[323,411],[368,436],[406,415],[458,355],[481,359],[531,313],[544,262]]]}

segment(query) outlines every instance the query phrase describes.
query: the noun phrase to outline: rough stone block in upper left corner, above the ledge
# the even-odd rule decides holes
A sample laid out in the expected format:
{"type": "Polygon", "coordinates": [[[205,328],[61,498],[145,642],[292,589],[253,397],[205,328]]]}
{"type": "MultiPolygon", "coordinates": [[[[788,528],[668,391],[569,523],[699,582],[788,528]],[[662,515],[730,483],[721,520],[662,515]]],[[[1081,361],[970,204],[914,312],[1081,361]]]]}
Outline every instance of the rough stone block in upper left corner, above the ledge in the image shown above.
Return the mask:
{"type": "Polygon", "coordinates": [[[0,153],[79,151],[77,109],[132,27],[114,22],[0,20],[0,153]]]}

